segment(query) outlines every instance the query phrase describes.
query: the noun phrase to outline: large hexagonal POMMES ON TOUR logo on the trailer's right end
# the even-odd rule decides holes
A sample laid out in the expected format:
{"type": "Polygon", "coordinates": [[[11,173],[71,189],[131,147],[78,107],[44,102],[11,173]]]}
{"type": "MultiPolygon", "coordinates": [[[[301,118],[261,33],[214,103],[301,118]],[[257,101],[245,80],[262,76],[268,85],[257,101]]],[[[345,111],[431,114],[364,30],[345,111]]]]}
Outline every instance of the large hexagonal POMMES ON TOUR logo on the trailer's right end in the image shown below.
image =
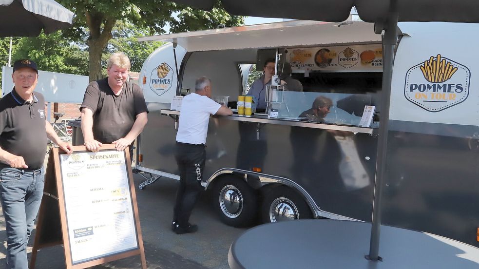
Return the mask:
{"type": "Polygon", "coordinates": [[[427,111],[439,112],[467,99],[470,78],[469,68],[438,54],[407,71],[404,96],[427,111]]]}

